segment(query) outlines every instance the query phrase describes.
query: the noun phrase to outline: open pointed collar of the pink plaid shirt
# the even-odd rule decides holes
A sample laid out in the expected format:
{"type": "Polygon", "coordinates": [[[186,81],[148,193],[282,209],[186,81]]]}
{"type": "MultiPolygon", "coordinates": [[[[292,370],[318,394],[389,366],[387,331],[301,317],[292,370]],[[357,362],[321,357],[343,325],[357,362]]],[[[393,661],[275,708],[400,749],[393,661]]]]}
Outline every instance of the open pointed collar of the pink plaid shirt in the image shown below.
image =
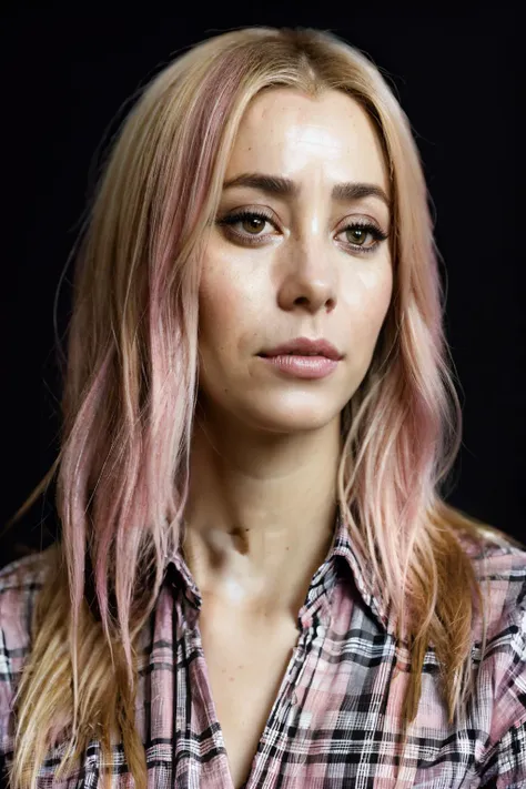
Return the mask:
{"type": "MultiPolygon", "coordinates": [[[[390,613],[391,608],[385,605],[384,599],[377,593],[377,588],[374,587],[372,574],[362,571],[352,546],[347,523],[341,514],[340,507],[337,507],[336,512],[331,547],[325,560],[314,573],[311,580],[305,603],[300,610],[299,625],[307,627],[314,617],[322,621],[330,617],[331,591],[337,581],[338,571],[351,574],[364,604],[374,614],[383,628],[395,636],[395,626],[390,613]]],[[[188,617],[194,620],[201,610],[203,600],[195,579],[182,555],[181,543],[178,550],[168,559],[165,577],[168,583],[181,590],[189,604],[188,617]]]]}

